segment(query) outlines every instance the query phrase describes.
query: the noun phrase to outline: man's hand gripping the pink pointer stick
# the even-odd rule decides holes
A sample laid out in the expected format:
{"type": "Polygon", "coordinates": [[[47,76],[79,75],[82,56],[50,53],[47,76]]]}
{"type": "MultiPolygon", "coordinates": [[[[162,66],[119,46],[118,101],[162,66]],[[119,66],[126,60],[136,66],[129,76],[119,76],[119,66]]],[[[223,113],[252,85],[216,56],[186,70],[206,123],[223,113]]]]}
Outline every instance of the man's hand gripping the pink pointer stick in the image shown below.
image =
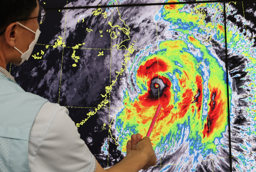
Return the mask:
{"type": "Polygon", "coordinates": [[[156,164],[157,156],[155,155],[149,137],[145,136],[142,139],[141,134],[132,134],[131,140],[127,141],[126,155],[129,156],[133,151],[140,151],[141,154],[146,156],[147,163],[142,168],[143,170],[147,170],[149,167],[156,164]]]}

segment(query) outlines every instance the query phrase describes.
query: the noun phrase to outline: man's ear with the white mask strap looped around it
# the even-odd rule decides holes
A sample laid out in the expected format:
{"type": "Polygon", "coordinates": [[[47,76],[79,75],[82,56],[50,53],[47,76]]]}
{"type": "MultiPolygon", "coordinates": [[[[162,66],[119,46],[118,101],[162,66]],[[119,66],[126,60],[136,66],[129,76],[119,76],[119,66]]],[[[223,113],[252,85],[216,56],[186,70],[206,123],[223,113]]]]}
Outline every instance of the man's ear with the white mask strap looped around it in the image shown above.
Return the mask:
{"type": "Polygon", "coordinates": [[[11,23],[5,30],[5,41],[10,47],[15,47],[18,32],[18,23],[11,23]]]}

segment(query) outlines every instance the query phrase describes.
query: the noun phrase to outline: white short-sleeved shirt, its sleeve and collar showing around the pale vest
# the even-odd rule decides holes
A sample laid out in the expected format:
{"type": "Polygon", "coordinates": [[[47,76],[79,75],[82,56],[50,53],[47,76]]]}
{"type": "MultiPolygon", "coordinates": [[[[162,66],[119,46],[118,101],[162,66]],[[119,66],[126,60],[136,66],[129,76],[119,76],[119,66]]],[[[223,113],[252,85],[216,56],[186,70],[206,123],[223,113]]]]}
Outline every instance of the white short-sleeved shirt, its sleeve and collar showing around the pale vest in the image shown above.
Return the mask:
{"type": "MultiPolygon", "coordinates": [[[[0,72],[15,82],[11,74],[0,72]]],[[[38,112],[28,140],[31,172],[95,172],[97,161],[80,139],[68,109],[46,102],[38,112]]]]}

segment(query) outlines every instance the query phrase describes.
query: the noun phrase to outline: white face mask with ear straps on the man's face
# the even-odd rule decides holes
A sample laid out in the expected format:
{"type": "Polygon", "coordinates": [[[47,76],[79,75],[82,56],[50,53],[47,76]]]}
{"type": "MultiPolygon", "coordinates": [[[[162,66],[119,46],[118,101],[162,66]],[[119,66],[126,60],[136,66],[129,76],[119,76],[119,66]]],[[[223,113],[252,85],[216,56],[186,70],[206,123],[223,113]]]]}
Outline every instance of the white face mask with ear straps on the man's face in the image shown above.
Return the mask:
{"type": "MultiPolygon", "coordinates": [[[[22,24],[19,23],[19,22],[16,22],[16,23],[18,23],[18,24],[21,25],[22,27],[25,27],[24,25],[22,25],[22,24]]],[[[37,29],[37,32],[34,32],[33,30],[29,29],[28,27],[25,27],[25,28],[26,28],[27,30],[33,32],[33,33],[36,34],[36,35],[35,35],[35,39],[33,40],[32,43],[30,43],[29,48],[28,48],[28,50],[27,50],[25,53],[22,53],[18,48],[14,47],[18,52],[20,52],[20,53],[22,54],[22,56],[21,56],[22,61],[21,61],[21,62],[14,62],[14,63],[13,63],[14,65],[17,65],[17,66],[21,65],[25,60],[28,60],[28,59],[29,59],[29,57],[30,57],[30,55],[32,54],[32,51],[33,51],[33,49],[34,49],[34,46],[35,46],[35,44],[36,44],[37,41],[38,41],[39,35],[40,35],[40,33],[41,33],[41,31],[39,30],[39,28],[37,29]]]]}

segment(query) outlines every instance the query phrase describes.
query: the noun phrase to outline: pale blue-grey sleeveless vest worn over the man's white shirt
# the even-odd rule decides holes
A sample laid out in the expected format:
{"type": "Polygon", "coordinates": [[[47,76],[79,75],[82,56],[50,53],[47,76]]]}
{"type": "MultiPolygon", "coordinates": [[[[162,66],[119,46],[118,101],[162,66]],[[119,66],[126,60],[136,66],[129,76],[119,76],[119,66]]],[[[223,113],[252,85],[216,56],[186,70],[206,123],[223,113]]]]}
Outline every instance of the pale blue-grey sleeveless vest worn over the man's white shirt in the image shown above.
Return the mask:
{"type": "Polygon", "coordinates": [[[0,172],[29,172],[28,137],[46,99],[0,73],[0,172]]]}

